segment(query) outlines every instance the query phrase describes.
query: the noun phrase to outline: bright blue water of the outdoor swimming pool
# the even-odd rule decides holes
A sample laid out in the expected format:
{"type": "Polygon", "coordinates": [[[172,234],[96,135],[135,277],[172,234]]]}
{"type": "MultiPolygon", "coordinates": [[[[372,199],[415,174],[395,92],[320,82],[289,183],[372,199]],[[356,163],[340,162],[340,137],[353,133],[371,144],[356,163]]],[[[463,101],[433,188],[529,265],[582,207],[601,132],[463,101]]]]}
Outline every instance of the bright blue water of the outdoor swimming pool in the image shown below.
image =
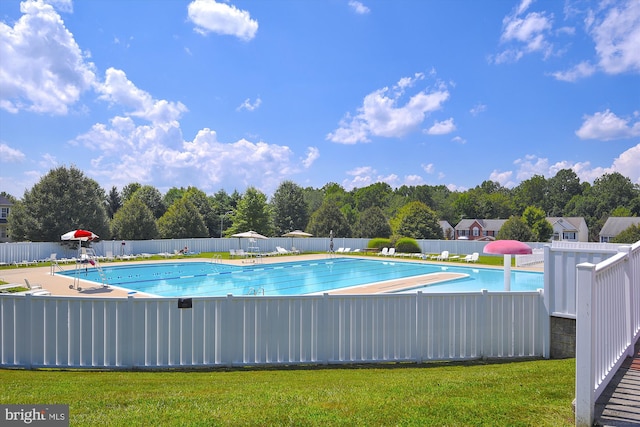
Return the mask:
{"type": "MultiPolygon", "coordinates": [[[[448,271],[469,276],[418,289],[422,292],[504,290],[502,270],[402,261],[333,258],[237,266],[175,262],[103,266],[109,285],[163,297],[305,295],[403,277],[448,271]]],[[[61,274],[100,282],[94,268],[61,274]]],[[[542,273],[512,271],[512,291],[544,288],[542,273]]]]}

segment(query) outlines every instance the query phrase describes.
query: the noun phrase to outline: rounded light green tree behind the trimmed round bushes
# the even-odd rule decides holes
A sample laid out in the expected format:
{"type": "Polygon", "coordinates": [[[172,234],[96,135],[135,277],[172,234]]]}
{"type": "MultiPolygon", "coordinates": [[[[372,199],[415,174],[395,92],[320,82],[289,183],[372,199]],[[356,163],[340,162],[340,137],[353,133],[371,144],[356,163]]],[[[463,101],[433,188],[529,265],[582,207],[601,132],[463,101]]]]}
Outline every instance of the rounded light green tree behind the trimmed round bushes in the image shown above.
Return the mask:
{"type": "Polygon", "coordinates": [[[442,228],[433,209],[422,202],[411,202],[402,207],[395,218],[393,230],[401,237],[414,239],[442,239],[442,228]]]}

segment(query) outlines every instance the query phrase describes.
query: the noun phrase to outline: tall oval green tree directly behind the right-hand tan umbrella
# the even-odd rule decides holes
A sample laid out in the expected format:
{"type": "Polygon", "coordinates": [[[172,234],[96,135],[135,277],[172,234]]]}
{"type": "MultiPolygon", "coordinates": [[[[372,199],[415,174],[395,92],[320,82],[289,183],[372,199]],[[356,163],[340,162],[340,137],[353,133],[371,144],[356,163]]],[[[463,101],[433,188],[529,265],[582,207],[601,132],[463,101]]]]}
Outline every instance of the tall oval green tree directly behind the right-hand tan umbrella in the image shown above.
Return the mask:
{"type": "Polygon", "coordinates": [[[293,181],[284,181],[278,186],[271,198],[271,208],[278,236],[293,230],[304,230],[309,222],[304,190],[293,181]]]}

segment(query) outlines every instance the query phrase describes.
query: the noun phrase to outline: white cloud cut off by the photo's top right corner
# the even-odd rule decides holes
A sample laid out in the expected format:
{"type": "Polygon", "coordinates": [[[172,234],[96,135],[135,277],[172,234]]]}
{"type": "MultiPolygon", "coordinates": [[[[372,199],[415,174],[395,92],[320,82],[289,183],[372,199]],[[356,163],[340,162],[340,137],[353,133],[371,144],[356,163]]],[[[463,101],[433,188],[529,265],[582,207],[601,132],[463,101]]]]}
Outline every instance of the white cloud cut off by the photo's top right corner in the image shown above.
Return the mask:
{"type": "Polygon", "coordinates": [[[610,7],[592,11],[587,19],[600,67],[608,74],[640,72],[640,2],[605,5],[610,7]]]}

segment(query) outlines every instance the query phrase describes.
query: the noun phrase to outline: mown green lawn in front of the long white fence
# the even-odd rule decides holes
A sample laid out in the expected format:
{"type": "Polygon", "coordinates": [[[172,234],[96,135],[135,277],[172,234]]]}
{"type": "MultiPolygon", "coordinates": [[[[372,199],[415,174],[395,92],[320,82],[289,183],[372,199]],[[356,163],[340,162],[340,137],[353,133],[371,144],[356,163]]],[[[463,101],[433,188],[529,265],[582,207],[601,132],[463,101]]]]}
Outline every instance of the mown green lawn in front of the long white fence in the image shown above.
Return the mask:
{"type": "Polygon", "coordinates": [[[575,360],[213,371],[0,370],[73,426],[571,426],[575,360]]]}

